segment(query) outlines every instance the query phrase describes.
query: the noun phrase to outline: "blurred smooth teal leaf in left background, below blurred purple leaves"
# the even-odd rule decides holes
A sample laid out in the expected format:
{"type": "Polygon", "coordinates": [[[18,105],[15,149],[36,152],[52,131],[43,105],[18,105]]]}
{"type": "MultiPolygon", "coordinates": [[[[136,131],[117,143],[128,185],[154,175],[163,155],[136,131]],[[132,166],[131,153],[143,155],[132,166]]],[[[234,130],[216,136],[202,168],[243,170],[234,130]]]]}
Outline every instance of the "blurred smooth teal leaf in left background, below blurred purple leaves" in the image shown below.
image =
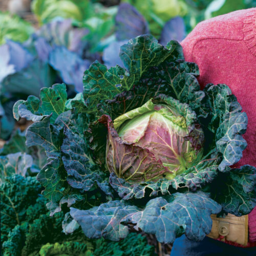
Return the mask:
{"type": "Polygon", "coordinates": [[[50,87],[54,80],[55,73],[48,63],[34,59],[28,67],[7,76],[2,85],[9,93],[38,96],[40,89],[50,87]]]}

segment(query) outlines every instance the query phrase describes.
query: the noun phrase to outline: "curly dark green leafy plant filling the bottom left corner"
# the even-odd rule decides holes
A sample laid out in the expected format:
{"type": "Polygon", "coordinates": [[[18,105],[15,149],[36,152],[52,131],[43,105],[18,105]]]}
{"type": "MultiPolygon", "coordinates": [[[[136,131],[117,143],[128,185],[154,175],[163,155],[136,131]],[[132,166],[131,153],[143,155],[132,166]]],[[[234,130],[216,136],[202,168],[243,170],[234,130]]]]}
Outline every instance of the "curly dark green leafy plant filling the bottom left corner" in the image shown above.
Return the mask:
{"type": "Polygon", "coordinates": [[[61,232],[63,212],[49,216],[41,189],[35,177],[20,175],[0,185],[2,255],[154,255],[154,247],[136,233],[119,243],[87,239],[80,229],[66,235],[61,232]]]}

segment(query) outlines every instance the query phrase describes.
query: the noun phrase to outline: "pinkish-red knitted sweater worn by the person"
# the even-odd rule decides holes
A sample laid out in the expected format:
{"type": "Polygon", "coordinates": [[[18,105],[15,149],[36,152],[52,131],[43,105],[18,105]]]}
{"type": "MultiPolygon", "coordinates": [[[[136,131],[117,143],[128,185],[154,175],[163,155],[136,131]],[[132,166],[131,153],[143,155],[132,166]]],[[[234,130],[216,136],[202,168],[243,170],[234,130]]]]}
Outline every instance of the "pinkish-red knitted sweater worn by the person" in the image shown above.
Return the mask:
{"type": "MultiPolygon", "coordinates": [[[[226,83],[248,116],[247,148],[234,166],[256,167],[256,8],[199,23],[181,42],[186,61],[199,66],[199,83],[226,83]]],[[[249,241],[256,242],[256,207],[249,214],[249,241]]]]}

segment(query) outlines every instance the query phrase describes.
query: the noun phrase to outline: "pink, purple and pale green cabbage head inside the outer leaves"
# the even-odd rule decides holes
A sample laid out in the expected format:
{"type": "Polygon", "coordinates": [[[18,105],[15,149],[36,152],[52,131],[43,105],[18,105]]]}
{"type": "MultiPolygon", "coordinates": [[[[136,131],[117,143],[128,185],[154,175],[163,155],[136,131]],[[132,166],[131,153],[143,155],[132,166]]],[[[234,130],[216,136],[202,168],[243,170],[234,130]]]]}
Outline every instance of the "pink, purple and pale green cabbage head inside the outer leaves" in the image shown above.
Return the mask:
{"type": "Polygon", "coordinates": [[[203,154],[196,113],[172,97],[151,99],[113,123],[109,116],[100,122],[108,127],[108,169],[130,182],[173,179],[203,154]]]}

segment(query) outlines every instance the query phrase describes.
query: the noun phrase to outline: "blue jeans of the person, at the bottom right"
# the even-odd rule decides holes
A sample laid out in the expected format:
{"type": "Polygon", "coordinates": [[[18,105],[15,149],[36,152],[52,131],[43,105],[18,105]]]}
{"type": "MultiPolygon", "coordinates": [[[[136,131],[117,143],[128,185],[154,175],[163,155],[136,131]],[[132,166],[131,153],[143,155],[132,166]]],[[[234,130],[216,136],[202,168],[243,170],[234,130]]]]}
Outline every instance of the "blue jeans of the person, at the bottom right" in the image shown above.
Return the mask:
{"type": "Polygon", "coordinates": [[[256,247],[242,248],[205,237],[196,242],[183,234],[174,242],[170,256],[256,256],[256,247]]]}

